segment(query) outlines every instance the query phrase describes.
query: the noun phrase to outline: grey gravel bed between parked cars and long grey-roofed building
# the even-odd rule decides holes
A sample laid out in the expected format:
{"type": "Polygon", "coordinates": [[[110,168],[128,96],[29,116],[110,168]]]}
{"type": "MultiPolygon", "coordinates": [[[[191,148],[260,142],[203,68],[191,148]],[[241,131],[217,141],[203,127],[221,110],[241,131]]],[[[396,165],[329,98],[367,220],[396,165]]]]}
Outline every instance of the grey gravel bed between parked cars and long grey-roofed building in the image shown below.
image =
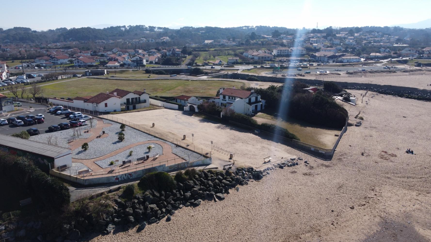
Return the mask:
{"type": "MultiPolygon", "coordinates": [[[[97,122],[94,122],[93,128],[97,126],[97,122]]],[[[84,133],[84,129],[90,128],[90,124],[81,126],[76,128],[81,129],[81,135],[78,137],[78,139],[87,139],[91,136],[91,132],[84,133]]],[[[49,138],[51,137],[51,144],[56,146],[62,146],[69,148],[70,145],[68,144],[69,138],[73,136],[73,129],[67,129],[67,130],[59,130],[56,132],[49,132],[49,133],[40,133],[39,135],[31,136],[29,140],[34,140],[42,143],[48,143],[49,138]]]]}

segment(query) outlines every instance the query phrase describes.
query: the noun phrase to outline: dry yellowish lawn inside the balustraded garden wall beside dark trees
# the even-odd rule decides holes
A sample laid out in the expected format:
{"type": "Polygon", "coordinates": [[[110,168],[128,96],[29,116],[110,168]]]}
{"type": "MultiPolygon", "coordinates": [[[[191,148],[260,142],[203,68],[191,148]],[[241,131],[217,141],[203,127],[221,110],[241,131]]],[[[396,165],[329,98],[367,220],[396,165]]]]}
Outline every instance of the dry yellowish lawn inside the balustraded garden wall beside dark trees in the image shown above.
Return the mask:
{"type": "MultiPolygon", "coordinates": [[[[302,142],[309,143],[314,146],[319,146],[325,149],[332,149],[337,138],[334,134],[340,134],[341,129],[331,129],[319,127],[313,124],[307,124],[296,119],[282,121],[270,114],[259,113],[256,115],[259,118],[265,118],[270,123],[274,123],[280,127],[284,127],[291,133],[294,133],[302,142]],[[272,122],[271,122],[272,121],[272,122]],[[275,123],[276,122],[276,123],[275,123]]],[[[259,122],[259,121],[258,121],[259,122]]],[[[260,123],[260,122],[259,122],[260,123]]]]}

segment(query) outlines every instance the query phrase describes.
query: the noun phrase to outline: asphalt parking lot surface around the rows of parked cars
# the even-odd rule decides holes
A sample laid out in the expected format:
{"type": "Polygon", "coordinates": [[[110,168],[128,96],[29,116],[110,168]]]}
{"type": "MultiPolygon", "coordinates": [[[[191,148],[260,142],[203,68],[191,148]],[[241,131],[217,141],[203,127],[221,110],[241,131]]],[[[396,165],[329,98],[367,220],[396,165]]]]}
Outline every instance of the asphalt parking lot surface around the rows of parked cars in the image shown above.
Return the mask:
{"type": "MultiPolygon", "coordinates": [[[[28,105],[28,103],[22,103],[22,108],[25,108],[26,105],[28,105]]],[[[13,133],[19,133],[22,130],[27,130],[29,128],[38,128],[41,133],[48,133],[50,132],[48,131],[48,127],[50,127],[51,125],[59,124],[63,122],[69,123],[69,121],[71,121],[70,119],[66,118],[64,115],[54,115],[53,113],[46,112],[47,107],[44,105],[31,104],[31,106],[35,109],[34,112],[17,112],[9,116],[0,116],[0,118],[4,118],[4,119],[11,118],[11,117],[16,118],[19,115],[24,115],[24,116],[37,115],[41,113],[45,116],[44,123],[33,124],[29,126],[22,125],[18,127],[16,127],[13,124],[4,124],[0,126],[0,133],[10,135],[13,133]]]]}

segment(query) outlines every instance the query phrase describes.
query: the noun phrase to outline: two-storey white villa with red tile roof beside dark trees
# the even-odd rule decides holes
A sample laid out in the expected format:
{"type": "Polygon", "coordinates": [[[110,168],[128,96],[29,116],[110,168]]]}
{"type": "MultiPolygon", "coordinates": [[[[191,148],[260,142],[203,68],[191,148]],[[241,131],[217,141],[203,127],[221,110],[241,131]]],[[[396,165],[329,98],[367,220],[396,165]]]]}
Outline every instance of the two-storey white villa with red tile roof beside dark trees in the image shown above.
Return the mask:
{"type": "MultiPolygon", "coordinates": [[[[220,88],[220,98],[211,99],[218,105],[232,109],[234,112],[251,115],[265,108],[265,100],[260,99],[260,95],[254,90],[247,91],[233,88],[220,88]]],[[[225,110],[226,110],[225,109],[225,110]]],[[[222,112],[222,114],[225,112],[222,112]]]]}

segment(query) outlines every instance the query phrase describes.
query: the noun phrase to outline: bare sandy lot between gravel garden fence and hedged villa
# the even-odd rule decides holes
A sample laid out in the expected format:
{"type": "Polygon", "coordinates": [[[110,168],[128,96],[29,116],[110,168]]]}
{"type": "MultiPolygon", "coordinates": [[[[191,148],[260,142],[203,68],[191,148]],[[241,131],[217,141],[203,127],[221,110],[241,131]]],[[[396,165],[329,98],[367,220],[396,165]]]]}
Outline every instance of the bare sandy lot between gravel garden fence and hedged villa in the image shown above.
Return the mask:
{"type": "MultiPolygon", "coordinates": [[[[194,112],[157,109],[112,116],[146,126],[155,123],[157,129],[179,137],[185,134],[190,143],[193,141],[197,146],[207,150],[211,150],[211,141],[213,141],[215,146],[235,154],[235,164],[259,167],[263,165],[263,158],[268,155],[271,155],[274,160],[290,156],[286,152],[286,146],[282,144],[268,140],[264,136],[256,136],[241,128],[196,117],[194,112]],[[194,133],[193,139],[192,133],[194,133]]],[[[219,168],[222,168],[222,164],[228,163],[228,155],[214,150],[212,154],[213,163],[219,164],[219,168]]]]}

